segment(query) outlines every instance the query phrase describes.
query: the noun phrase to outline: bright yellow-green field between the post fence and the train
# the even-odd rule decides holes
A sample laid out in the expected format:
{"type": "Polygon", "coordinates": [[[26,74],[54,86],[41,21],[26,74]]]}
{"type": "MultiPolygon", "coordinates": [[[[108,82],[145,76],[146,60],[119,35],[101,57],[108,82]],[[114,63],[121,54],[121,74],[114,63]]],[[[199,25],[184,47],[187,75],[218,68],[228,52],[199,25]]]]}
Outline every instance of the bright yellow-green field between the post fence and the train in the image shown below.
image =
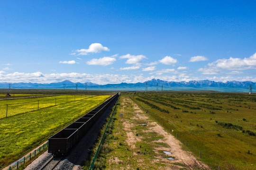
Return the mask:
{"type": "Polygon", "coordinates": [[[0,119],[0,168],[46,141],[108,97],[94,96],[0,119]]]}

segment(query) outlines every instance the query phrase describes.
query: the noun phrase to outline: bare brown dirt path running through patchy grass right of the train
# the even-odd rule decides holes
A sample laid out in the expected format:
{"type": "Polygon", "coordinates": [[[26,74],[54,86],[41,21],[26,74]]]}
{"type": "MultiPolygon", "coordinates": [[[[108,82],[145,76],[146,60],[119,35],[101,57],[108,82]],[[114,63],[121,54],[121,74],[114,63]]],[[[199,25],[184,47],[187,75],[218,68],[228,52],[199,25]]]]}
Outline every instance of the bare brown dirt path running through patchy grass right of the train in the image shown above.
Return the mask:
{"type": "MultiPolygon", "coordinates": [[[[147,136],[147,134],[155,133],[157,136],[160,136],[158,140],[152,141],[152,143],[159,144],[163,143],[163,146],[155,146],[152,145],[152,149],[155,152],[156,156],[154,159],[151,159],[151,164],[164,164],[165,166],[159,167],[158,169],[165,169],[165,170],[178,170],[180,168],[183,169],[210,169],[206,164],[201,161],[198,161],[196,157],[192,155],[192,153],[184,151],[181,147],[182,143],[177,140],[173,135],[168,133],[162,126],[158,125],[156,122],[149,119],[148,115],[144,114],[142,110],[134,103],[130,98],[124,97],[121,100],[122,108],[120,109],[121,114],[128,114],[127,113],[127,106],[131,105],[133,108],[130,110],[131,118],[128,118],[122,122],[123,130],[126,133],[126,140],[125,142],[128,146],[131,147],[131,155],[138,155],[136,152],[136,144],[137,142],[145,142],[143,141],[143,136],[147,136]],[[134,119],[134,121],[132,121],[134,119]],[[134,128],[137,126],[136,122],[144,122],[146,126],[143,132],[143,136],[136,136],[134,128]],[[169,152],[168,154],[163,154],[163,151],[169,152]],[[174,160],[170,161],[167,157],[172,157],[174,160]]],[[[124,116],[125,118],[125,116],[124,116]]],[[[146,151],[146,150],[145,150],[146,151]]],[[[109,162],[111,163],[118,163],[117,160],[119,158],[115,157],[114,159],[110,159],[109,162]]],[[[146,159],[144,160],[143,157],[137,157],[138,165],[141,167],[146,167],[149,163],[146,163],[146,159]]],[[[129,169],[129,166],[126,167],[129,169]]],[[[125,168],[125,169],[126,169],[125,168]]],[[[120,168],[123,169],[123,168],[120,168]]],[[[144,169],[144,168],[143,168],[144,169]]],[[[149,167],[146,169],[150,169],[149,167]]]]}

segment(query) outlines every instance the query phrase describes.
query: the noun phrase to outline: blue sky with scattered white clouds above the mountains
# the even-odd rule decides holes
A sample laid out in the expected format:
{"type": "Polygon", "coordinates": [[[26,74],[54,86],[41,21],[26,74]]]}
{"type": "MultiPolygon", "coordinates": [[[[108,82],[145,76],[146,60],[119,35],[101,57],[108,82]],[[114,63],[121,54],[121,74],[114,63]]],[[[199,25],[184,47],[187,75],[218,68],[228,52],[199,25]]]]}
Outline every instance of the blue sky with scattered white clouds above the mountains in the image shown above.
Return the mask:
{"type": "Polygon", "coordinates": [[[0,2],[0,82],[256,82],[256,1],[0,2]]]}

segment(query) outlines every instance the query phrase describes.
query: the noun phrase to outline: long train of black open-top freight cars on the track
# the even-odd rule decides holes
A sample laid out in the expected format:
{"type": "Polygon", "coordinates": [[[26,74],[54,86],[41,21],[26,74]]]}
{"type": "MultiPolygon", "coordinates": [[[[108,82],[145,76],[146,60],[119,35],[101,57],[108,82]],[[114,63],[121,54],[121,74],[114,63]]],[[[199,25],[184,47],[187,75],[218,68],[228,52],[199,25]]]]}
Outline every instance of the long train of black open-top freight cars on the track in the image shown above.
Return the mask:
{"type": "Polygon", "coordinates": [[[52,153],[54,155],[64,155],[68,153],[70,149],[86,134],[94,122],[101,117],[102,113],[107,110],[110,104],[117,101],[118,97],[119,93],[116,93],[106,102],[103,102],[100,106],[82,116],[82,118],[77,119],[69,126],[51,136],[48,139],[48,153],[52,153]]]}

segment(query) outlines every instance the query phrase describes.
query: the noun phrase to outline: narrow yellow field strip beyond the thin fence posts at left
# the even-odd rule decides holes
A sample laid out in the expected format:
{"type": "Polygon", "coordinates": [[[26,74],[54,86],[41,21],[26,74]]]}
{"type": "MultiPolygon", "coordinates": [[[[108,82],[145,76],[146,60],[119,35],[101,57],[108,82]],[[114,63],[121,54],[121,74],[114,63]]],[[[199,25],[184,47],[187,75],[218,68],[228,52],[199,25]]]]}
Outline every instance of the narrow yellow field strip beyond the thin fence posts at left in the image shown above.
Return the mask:
{"type": "MultiPolygon", "coordinates": [[[[17,94],[18,95],[18,94],[17,94]]],[[[7,115],[13,116],[16,114],[26,113],[38,109],[44,109],[47,107],[65,104],[68,102],[74,102],[77,100],[83,100],[93,95],[57,95],[51,97],[39,97],[39,98],[21,98],[11,100],[0,101],[0,119],[7,115]],[[8,106],[7,106],[8,104],[8,106]]]]}

